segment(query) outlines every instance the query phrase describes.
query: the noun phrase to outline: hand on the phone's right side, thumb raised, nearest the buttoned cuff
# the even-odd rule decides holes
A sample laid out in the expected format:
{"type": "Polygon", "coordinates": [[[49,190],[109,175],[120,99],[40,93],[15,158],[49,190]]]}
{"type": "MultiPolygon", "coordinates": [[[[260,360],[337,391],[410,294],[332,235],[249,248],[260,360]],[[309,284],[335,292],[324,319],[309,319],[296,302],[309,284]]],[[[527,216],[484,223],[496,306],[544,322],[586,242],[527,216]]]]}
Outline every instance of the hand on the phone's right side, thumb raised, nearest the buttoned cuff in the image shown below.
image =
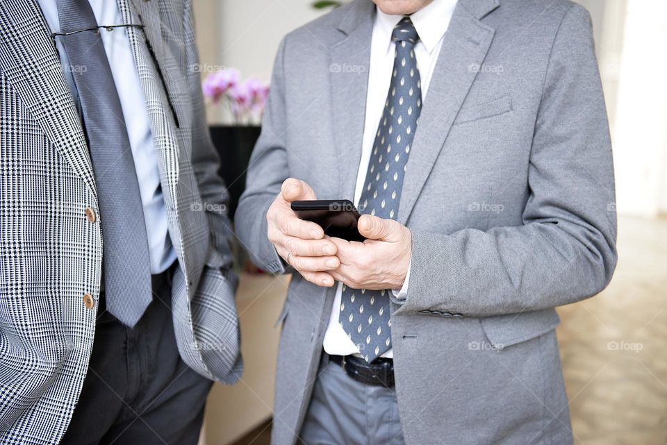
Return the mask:
{"type": "Polygon", "coordinates": [[[340,266],[329,274],[352,289],[400,289],[412,255],[409,228],[372,215],[362,215],[358,227],[364,242],[331,238],[340,266]]]}

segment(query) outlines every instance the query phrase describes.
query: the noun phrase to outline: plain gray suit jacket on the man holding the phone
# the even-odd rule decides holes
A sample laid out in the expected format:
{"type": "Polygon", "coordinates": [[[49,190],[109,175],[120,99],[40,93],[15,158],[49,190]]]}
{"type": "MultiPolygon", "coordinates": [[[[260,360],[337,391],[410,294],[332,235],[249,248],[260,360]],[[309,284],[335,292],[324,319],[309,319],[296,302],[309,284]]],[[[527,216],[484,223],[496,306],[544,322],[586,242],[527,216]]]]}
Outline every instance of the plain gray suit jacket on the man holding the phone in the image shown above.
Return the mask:
{"type": "MultiPolygon", "coordinates": [[[[374,6],[290,33],[236,216],[254,261],[284,271],[265,215],[293,176],[352,199],[374,6]],[[338,69],[349,65],[357,69],[338,69]]],[[[616,265],[611,144],[588,12],[567,0],[459,0],[406,169],[413,233],[392,342],[406,443],[569,444],[554,307],[616,265]]],[[[273,442],[294,444],[334,289],[295,276],[281,315],[273,442]]]]}

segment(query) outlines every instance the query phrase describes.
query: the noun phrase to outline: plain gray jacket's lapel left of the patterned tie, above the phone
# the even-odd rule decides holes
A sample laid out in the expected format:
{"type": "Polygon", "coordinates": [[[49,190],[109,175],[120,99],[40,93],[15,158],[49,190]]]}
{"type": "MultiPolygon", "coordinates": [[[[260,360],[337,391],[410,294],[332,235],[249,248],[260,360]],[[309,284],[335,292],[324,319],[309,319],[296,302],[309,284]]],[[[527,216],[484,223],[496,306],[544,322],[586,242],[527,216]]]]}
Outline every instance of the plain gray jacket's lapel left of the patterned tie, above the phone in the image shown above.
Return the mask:
{"type": "Polygon", "coordinates": [[[340,198],[354,199],[354,185],[361,158],[361,142],[368,89],[370,40],[373,31],[374,4],[370,0],[356,1],[339,30],[346,37],[331,47],[329,76],[334,139],[338,150],[340,198]],[[354,67],[358,72],[346,72],[354,67]]]}

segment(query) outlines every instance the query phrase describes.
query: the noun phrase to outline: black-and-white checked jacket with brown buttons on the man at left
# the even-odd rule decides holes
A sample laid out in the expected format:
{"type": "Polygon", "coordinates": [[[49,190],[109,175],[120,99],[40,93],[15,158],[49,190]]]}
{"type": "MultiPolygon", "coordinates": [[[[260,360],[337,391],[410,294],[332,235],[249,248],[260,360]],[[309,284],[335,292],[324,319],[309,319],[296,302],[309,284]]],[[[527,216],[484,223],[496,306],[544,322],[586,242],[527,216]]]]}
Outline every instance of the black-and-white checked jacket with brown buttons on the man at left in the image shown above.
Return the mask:
{"type": "MultiPolygon", "coordinates": [[[[151,119],[170,235],[183,360],[240,376],[227,191],[208,136],[191,1],[118,0],[151,119]],[[139,17],[140,16],[140,17],[139,17]],[[176,118],[178,126],[176,126],[176,118]],[[203,204],[206,205],[203,205],[203,204]]],[[[117,32],[117,31],[115,31],[117,32]]],[[[97,190],[85,137],[36,0],[0,2],[0,443],[57,444],[88,371],[103,234],[85,217],[97,190]],[[85,308],[83,295],[95,305],[85,308]]]]}

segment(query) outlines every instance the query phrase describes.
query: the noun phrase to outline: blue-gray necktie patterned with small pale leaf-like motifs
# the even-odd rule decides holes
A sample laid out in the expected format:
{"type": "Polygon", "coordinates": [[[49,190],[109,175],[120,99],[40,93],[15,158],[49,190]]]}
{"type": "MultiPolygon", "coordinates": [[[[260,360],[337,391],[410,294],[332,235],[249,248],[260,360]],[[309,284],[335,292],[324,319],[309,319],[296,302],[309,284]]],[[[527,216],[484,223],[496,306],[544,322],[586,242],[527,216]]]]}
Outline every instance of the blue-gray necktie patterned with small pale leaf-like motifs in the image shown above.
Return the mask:
{"type": "MultiPolygon", "coordinates": [[[[398,215],[405,167],[422,108],[414,51],[419,36],[410,17],[403,17],[391,38],[396,43],[391,84],[359,199],[362,213],[386,219],[398,215]]],[[[389,292],[343,286],[340,324],[367,362],[391,348],[389,292]]]]}

